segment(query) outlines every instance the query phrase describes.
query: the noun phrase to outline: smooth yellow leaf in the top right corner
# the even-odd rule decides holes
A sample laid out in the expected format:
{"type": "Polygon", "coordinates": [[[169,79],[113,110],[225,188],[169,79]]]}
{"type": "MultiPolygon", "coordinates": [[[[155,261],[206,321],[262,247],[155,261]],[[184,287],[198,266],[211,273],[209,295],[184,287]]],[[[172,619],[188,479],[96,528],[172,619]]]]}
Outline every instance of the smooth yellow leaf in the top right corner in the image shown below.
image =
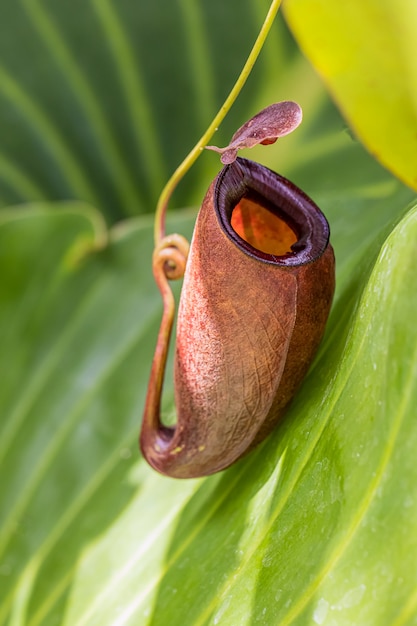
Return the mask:
{"type": "Polygon", "coordinates": [[[417,189],[415,0],[286,0],[285,9],[354,132],[417,189]]]}

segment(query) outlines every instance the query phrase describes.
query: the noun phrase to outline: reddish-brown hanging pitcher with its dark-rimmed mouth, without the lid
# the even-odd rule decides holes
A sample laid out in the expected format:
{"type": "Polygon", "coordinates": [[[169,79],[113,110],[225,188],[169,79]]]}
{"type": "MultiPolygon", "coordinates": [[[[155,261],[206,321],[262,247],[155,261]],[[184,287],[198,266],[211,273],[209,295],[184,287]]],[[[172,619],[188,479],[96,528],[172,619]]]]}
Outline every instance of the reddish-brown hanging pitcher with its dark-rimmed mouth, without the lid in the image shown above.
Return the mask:
{"type": "Polygon", "coordinates": [[[167,337],[155,356],[140,437],[147,461],[168,476],[204,476],[262,441],[310,366],[334,285],[329,226],[314,202],[258,163],[226,165],[186,263],[174,427],[159,416],[167,337]]]}

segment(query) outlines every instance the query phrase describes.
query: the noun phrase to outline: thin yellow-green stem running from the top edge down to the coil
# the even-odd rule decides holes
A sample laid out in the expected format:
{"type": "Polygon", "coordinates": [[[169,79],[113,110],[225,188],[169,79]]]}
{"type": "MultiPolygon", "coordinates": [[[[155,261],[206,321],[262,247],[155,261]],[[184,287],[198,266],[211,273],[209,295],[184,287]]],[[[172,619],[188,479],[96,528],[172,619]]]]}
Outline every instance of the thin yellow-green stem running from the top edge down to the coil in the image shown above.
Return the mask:
{"type": "Polygon", "coordinates": [[[259,53],[262,50],[262,47],[271,29],[275,16],[278,13],[278,9],[280,5],[281,5],[281,0],[272,0],[271,5],[269,7],[269,11],[264,20],[264,23],[262,24],[262,27],[259,31],[259,35],[256,38],[253,48],[232,90],[230,91],[229,95],[227,96],[226,100],[221,106],[219,112],[214,117],[213,121],[211,122],[210,126],[207,128],[204,135],[196,143],[196,145],[191,150],[191,152],[188,153],[188,155],[185,157],[183,162],[177,167],[177,169],[175,170],[175,172],[173,173],[173,175],[171,176],[171,178],[165,185],[164,189],[162,190],[162,193],[158,200],[158,204],[156,206],[156,212],[155,212],[155,226],[154,226],[155,247],[160,246],[161,241],[165,237],[166,210],[167,210],[168,203],[170,201],[170,198],[175,188],[177,187],[180,180],[184,177],[184,175],[191,168],[191,166],[198,159],[204,147],[210,141],[211,137],[214,135],[214,133],[220,126],[221,122],[224,120],[227,113],[229,112],[234,101],[238,97],[239,93],[241,92],[244,84],[246,83],[252,71],[253,66],[255,65],[255,62],[259,56],[259,53]]]}

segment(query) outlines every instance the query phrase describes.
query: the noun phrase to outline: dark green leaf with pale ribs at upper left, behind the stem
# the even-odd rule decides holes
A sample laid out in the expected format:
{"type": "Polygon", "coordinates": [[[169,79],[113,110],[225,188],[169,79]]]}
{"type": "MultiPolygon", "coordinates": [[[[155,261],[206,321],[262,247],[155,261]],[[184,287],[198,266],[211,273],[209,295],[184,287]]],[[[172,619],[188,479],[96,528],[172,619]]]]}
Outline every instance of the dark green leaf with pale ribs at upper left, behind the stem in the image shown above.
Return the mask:
{"type": "MultiPolygon", "coordinates": [[[[151,212],[223,103],[267,6],[3,0],[1,205],[76,198],[112,222],[151,212]]],[[[291,50],[288,35],[279,45],[291,50]]],[[[274,71],[291,56],[280,55],[274,71]]],[[[236,106],[244,118],[265,69],[261,61],[236,106]]],[[[234,124],[224,125],[229,135],[234,124]]],[[[211,163],[214,174],[217,161],[211,163]]],[[[178,202],[197,201],[201,172],[198,163],[178,202]]]]}

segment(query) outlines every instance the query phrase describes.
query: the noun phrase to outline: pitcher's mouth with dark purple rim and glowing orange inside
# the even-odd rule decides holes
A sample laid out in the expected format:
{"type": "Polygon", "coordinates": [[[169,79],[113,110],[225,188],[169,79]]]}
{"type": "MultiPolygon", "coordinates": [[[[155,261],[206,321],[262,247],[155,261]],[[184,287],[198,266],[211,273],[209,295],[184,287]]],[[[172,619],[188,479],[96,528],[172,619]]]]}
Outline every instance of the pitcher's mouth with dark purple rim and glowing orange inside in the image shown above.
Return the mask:
{"type": "Polygon", "coordinates": [[[223,231],[246,254],[266,263],[311,263],[326,250],[329,224],[291,181],[248,159],[220,172],[214,207],[223,231]]]}

